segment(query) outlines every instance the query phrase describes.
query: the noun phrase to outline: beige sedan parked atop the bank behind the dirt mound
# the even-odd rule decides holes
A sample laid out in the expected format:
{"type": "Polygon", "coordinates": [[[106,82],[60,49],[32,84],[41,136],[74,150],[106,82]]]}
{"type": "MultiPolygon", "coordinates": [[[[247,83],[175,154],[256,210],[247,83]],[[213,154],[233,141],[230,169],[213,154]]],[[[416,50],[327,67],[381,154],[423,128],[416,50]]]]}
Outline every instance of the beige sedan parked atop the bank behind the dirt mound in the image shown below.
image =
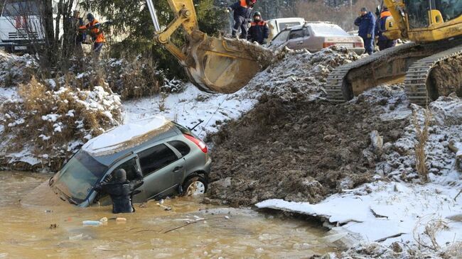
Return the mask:
{"type": "Polygon", "coordinates": [[[272,46],[286,45],[291,50],[309,50],[311,52],[339,45],[355,52],[364,53],[362,38],[350,35],[340,26],[329,22],[306,22],[281,31],[271,42],[272,46]]]}

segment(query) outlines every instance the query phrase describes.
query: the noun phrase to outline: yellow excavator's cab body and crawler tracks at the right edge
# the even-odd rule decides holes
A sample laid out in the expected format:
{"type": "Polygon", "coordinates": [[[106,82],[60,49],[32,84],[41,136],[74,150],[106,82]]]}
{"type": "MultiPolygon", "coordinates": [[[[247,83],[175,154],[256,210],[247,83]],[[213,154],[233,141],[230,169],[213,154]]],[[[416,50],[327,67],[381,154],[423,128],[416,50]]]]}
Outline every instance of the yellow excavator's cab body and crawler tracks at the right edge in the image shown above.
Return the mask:
{"type": "Polygon", "coordinates": [[[456,92],[462,97],[462,1],[383,0],[392,13],[385,35],[410,43],[335,68],[328,100],[344,102],[383,83],[404,82],[414,104],[456,92]]]}

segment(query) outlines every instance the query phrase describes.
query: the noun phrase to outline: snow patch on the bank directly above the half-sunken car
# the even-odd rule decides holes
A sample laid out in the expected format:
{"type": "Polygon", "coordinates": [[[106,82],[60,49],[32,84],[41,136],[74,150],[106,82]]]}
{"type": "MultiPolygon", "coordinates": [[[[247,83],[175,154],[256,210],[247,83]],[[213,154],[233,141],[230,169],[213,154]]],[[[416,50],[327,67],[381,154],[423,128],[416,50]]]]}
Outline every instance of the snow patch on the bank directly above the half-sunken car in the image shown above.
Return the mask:
{"type": "Polygon", "coordinates": [[[252,109],[257,99],[246,96],[246,89],[235,94],[207,94],[188,84],[181,93],[125,101],[124,122],[131,123],[159,114],[192,128],[202,120],[203,123],[193,132],[204,138],[208,132],[217,131],[220,122],[236,119],[252,109]]]}

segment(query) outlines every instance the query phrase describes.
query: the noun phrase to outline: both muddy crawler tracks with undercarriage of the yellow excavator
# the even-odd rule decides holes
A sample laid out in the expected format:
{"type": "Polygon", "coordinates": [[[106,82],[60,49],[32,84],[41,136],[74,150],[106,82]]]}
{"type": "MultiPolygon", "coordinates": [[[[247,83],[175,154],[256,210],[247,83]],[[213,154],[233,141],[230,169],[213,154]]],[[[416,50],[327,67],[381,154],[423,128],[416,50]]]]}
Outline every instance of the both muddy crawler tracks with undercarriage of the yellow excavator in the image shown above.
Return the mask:
{"type": "Polygon", "coordinates": [[[441,89],[444,85],[433,85],[430,80],[432,71],[439,69],[444,60],[458,56],[462,56],[462,38],[426,44],[398,45],[337,67],[326,81],[327,98],[328,101],[337,103],[349,101],[379,84],[404,82],[406,93],[412,103],[428,104],[439,95],[462,92],[462,79],[453,75],[462,72],[457,69],[456,72],[451,71],[452,75],[448,75],[454,79],[448,82],[454,85],[450,90],[441,89]]]}

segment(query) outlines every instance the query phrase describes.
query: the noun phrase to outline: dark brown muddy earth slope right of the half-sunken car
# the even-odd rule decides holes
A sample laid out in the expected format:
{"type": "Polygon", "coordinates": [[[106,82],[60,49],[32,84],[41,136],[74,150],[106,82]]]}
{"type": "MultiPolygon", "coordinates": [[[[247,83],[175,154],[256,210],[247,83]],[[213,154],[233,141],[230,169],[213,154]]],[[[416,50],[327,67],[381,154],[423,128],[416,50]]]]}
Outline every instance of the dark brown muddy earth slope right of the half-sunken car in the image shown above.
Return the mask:
{"type": "Polygon", "coordinates": [[[263,96],[238,121],[211,136],[210,198],[232,206],[265,199],[319,202],[328,194],[370,182],[382,159],[371,133],[383,143],[400,138],[406,119],[382,120],[393,89],[333,105],[263,96]]]}

